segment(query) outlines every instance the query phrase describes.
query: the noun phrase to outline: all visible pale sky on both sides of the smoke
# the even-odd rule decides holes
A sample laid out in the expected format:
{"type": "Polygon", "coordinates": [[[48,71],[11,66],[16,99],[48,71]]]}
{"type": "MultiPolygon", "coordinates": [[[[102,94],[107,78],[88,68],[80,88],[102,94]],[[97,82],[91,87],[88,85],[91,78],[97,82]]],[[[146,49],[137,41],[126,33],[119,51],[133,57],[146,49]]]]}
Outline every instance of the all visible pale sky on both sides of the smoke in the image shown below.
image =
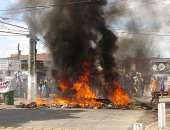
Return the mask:
{"type": "MultiPolygon", "coordinates": [[[[111,2],[116,0],[110,0],[111,2]]],[[[164,0],[163,2],[160,2],[160,0],[150,0],[150,3],[143,2],[143,4],[138,4],[138,2],[135,2],[136,0],[128,0],[131,1],[129,3],[129,8],[131,8],[133,12],[133,17],[139,20],[140,26],[148,31],[156,31],[156,32],[170,32],[170,9],[169,5],[170,2],[168,0],[164,0]],[[148,4],[148,5],[147,5],[148,4]],[[153,13],[154,15],[149,14],[145,10],[145,6],[148,6],[149,8],[154,8],[153,10],[150,10],[150,13],[153,13]],[[152,18],[153,17],[153,18],[152,18]],[[156,24],[160,25],[161,28],[153,30],[149,28],[150,20],[155,21],[156,24]]],[[[142,0],[140,0],[142,1],[142,0]]],[[[143,0],[145,1],[145,0],[143,0]]],[[[146,0],[147,1],[147,0],[146,0]]],[[[17,0],[0,0],[0,10],[2,9],[8,9],[9,5],[17,2],[17,0]]],[[[0,11],[0,17],[11,17],[7,14],[3,14],[3,12],[0,11]]],[[[127,15],[125,18],[128,19],[129,15],[127,15]]],[[[122,28],[123,30],[126,29],[126,23],[125,18],[121,20],[121,22],[117,22],[115,24],[115,27],[122,28]]],[[[16,19],[16,18],[14,18],[16,19]]],[[[6,20],[6,22],[10,22],[13,24],[26,26],[23,22],[19,22],[16,20],[6,20]]],[[[5,26],[6,27],[6,26],[5,26]]],[[[0,24],[0,30],[5,28],[4,25],[0,24]]],[[[7,26],[8,27],[8,26],[7,26]]],[[[15,28],[13,28],[15,29],[15,28]]],[[[1,33],[0,33],[1,35],[1,33]]],[[[0,36],[0,57],[6,57],[9,56],[11,53],[17,53],[17,44],[20,43],[22,54],[28,54],[28,48],[29,48],[29,39],[25,36],[0,36]]],[[[170,36],[153,36],[153,40],[151,41],[153,44],[153,48],[156,48],[157,55],[161,55],[162,57],[170,57],[170,36]]],[[[46,49],[43,45],[38,44],[38,52],[44,52],[46,49]]]]}

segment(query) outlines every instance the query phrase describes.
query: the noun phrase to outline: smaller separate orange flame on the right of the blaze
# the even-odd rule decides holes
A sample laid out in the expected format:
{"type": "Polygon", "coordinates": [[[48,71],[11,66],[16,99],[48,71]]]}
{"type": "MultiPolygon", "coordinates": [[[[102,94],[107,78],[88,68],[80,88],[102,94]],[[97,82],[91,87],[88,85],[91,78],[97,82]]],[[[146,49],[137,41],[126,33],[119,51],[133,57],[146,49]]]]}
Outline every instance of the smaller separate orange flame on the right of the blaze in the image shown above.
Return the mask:
{"type": "Polygon", "coordinates": [[[130,103],[129,95],[123,90],[119,82],[113,81],[114,91],[112,91],[108,99],[115,106],[126,106],[130,103]]]}

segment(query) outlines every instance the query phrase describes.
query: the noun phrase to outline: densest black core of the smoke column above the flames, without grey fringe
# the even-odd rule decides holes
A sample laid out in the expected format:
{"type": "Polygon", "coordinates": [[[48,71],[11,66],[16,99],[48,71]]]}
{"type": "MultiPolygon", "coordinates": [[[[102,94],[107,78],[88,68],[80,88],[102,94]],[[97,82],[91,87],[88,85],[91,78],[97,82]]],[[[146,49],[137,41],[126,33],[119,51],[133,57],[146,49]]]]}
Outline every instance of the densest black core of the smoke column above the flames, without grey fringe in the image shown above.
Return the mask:
{"type": "Polygon", "coordinates": [[[105,78],[109,80],[113,75],[112,67],[115,66],[112,54],[117,47],[116,36],[107,29],[103,18],[102,6],[106,5],[106,1],[69,2],[79,4],[67,6],[68,0],[54,2],[62,6],[54,8],[46,18],[46,22],[50,23],[45,39],[57,73],[75,79],[81,74],[82,63],[87,61],[94,66],[96,56],[99,55],[105,78]],[[101,39],[97,39],[99,34],[101,39]],[[94,48],[92,43],[97,48],[94,48]],[[99,54],[96,51],[98,48],[99,54]]]}

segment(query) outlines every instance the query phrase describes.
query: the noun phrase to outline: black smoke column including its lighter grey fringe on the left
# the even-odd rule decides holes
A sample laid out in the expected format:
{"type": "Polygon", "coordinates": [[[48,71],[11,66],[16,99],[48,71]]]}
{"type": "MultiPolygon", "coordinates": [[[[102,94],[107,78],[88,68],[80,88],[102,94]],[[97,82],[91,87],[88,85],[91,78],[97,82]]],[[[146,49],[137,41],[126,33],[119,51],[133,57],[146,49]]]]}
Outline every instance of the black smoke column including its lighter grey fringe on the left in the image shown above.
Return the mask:
{"type": "Polygon", "coordinates": [[[88,62],[90,72],[100,67],[105,80],[112,81],[116,75],[113,54],[117,50],[117,37],[106,25],[103,8],[107,0],[19,2],[20,6],[42,4],[51,4],[53,8],[27,12],[24,18],[34,34],[43,35],[52,55],[55,78],[59,75],[76,80],[82,73],[83,62],[88,62]]]}

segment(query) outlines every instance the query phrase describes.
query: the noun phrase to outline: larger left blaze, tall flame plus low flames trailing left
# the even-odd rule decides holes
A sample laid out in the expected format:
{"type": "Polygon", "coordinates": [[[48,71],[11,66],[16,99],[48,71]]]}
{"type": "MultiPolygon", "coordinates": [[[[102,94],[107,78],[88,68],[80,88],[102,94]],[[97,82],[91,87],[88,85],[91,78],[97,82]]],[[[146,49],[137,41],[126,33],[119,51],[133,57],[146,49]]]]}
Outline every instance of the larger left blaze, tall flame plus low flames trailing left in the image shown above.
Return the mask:
{"type": "Polygon", "coordinates": [[[56,104],[67,105],[68,107],[82,107],[82,108],[94,108],[101,107],[102,103],[96,100],[96,94],[91,90],[89,86],[90,82],[90,72],[88,63],[83,63],[83,74],[78,78],[76,82],[70,84],[66,80],[59,81],[59,90],[61,92],[65,92],[71,88],[74,92],[72,98],[67,97],[59,97],[56,96],[52,100],[45,100],[41,98],[37,98],[35,100],[37,106],[52,105],[56,104]]]}

